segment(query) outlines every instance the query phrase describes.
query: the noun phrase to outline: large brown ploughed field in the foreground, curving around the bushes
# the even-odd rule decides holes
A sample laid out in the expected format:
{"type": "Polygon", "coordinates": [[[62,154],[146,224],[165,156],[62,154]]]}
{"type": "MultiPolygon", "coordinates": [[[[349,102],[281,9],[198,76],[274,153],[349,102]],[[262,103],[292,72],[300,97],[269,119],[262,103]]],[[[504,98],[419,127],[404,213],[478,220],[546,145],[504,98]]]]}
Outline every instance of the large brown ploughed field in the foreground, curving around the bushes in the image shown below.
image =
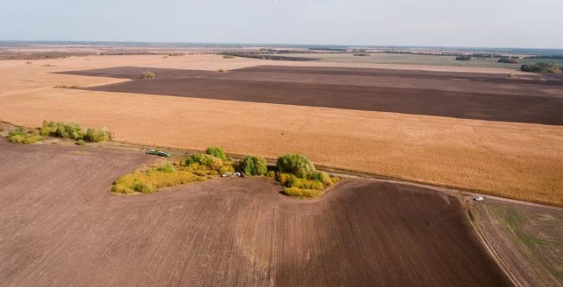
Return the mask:
{"type": "Polygon", "coordinates": [[[0,153],[3,286],[510,286],[462,203],[433,189],[347,180],[299,201],[232,178],[111,196],[148,156],[0,153]]]}

